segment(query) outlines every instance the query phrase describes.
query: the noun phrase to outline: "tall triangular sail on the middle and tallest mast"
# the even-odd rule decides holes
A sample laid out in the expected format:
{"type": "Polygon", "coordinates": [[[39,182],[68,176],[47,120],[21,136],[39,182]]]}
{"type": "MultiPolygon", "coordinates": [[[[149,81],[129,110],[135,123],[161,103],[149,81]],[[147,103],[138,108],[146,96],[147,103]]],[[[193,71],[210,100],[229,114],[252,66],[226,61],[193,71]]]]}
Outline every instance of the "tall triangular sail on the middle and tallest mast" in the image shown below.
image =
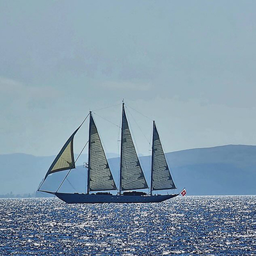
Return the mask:
{"type": "Polygon", "coordinates": [[[122,115],[120,175],[120,190],[148,188],[132,141],[131,132],[125,115],[124,104],[122,115]]]}

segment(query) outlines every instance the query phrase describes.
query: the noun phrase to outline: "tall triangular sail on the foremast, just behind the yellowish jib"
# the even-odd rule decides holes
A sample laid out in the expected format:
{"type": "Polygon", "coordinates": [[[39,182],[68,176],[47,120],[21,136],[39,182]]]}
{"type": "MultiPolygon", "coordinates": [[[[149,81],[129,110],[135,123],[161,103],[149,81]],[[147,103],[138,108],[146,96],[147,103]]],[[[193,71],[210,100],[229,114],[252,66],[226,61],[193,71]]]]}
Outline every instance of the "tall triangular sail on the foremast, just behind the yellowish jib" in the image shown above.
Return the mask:
{"type": "Polygon", "coordinates": [[[108,161],[97,127],[90,113],[90,130],[89,130],[89,191],[115,190],[116,185],[109,169],[108,161]]]}

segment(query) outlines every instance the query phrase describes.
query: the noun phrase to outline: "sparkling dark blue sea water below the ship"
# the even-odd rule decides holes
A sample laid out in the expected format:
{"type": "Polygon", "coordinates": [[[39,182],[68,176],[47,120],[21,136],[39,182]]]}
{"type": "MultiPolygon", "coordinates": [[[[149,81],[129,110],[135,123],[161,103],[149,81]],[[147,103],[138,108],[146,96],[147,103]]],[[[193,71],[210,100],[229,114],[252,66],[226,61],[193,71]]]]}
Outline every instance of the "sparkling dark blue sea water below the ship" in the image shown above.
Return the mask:
{"type": "Polygon", "coordinates": [[[0,255],[256,255],[256,196],[0,200],[0,255]]]}

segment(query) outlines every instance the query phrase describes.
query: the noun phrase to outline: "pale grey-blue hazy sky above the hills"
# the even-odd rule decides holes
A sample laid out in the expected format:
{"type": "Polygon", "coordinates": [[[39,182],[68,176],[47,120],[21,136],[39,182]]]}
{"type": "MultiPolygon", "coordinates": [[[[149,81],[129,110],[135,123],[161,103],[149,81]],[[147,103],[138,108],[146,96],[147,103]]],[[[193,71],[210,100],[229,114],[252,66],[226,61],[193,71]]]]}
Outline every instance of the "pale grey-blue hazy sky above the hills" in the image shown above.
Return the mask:
{"type": "MultiPolygon", "coordinates": [[[[0,0],[0,154],[56,155],[90,109],[110,106],[95,122],[117,154],[122,99],[140,154],[152,120],[166,152],[256,145],[255,10],[248,0],[0,0]]],[[[76,137],[79,153],[88,124],[76,137]]]]}

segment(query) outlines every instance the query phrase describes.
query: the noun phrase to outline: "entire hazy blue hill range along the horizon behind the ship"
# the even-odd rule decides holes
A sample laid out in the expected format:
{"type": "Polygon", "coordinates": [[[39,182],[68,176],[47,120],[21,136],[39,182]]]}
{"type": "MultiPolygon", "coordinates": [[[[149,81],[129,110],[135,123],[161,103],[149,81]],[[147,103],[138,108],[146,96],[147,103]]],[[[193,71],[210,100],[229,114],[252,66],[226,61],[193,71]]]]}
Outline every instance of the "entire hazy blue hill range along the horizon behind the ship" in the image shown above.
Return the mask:
{"type": "MultiPolygon", "coordinates": [[[[186,187],[189,195],[256,195],[255,156],[256,146],[247,145],[195,148],[166,154],[177,187],[186,187]]],[[[0,155],[0,195],[35,192],[53,159],[54,156],[0,155]]],[[[80,157],[77,170],[72,170],[63,189],[84,191],[86,168],[79,165],[86,159],[85,155],[80,157]]],[[[140,157],[140,160],[149,180],[150,157],[140,157]]],[[[117,181],[118,157],[109,159],[109,165],[117,181]]],[[[49,176],[46,188],[53,184],[58,186],[64,175],[65,172],[60,172],[49,176]]]]}

